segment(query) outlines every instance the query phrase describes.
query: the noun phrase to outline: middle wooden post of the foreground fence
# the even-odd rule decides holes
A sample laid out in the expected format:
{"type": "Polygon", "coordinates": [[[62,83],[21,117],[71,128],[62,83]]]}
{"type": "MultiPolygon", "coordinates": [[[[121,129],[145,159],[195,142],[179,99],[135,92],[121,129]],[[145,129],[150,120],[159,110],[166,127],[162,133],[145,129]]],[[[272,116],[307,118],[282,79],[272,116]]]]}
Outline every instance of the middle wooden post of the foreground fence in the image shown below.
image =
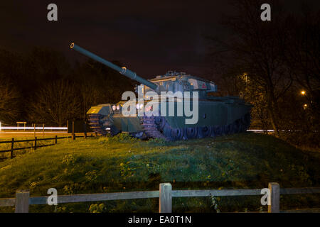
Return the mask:
{"type": "Polygon", "coordinates": [[[170,183],[159,185],[159,213],[172,212],[172,186],[170,183]]]}

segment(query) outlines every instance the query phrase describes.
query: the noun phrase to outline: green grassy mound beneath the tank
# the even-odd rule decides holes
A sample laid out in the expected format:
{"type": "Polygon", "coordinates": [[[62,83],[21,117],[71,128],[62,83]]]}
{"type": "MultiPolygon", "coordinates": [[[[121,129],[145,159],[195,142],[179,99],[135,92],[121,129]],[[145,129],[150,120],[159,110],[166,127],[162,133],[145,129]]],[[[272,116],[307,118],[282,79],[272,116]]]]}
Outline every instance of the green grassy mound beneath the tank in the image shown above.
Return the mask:
{"type": "MultiPolygon", "coordinates": [[[[319,156],[270,135],[242,133],[219,138],[165,142],[142,141],[122,134],[114,138],[59,140],[0,162],[0,198],[17,189],[31,196],[89,194],[159,189],[319,187],[319,156]]],[[[174,212],[266,211],[261,196],[174,198],[174,212]],[[218,204],[213,205],[213,200],[218,204]]],[[[159,199],[131,199],[58,206],[34,205],[33,212],[157,212],[159,199]],[[100,205],[100,206],[99,206],[100,205]]],[[[281,209],[319,206],[318,195],[282,196],[281,209]]],[[[12,207],[0,211],[11,212],[12,207]]]]}

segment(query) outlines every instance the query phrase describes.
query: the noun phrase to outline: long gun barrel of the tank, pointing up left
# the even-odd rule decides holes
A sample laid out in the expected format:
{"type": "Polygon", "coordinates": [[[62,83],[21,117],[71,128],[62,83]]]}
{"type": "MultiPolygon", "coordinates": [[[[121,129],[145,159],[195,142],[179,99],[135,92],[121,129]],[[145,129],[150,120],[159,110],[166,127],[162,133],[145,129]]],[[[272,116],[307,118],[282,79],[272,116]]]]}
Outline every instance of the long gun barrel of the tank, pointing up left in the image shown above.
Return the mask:
{"type": "Polygon", "coordinates": [[[73,50],[77,50],[78,52],[82,53],[82,55],[91,57],[93,60],[96,60],[97,62],[100,62],[103,65],[107,65],[107,67],[110,67],[113,70],[118,71],[120,74],[123,74],[124,76],[129,77],[130,79],[134,79],[137,82],[140,82],[141,84],[144,84],[150,87],[151,89],[155,90],[158,87],[156,84],[149,82],[148,80],[143,79],[142,77],[139,77],[135,72],[132,72],[131,70],[127,70],[126,67],[119,67],[117,65],[114,65],[111,62],[103,59],[102,57],[99,57],[90,51],[80,48],[80,46],[75,45],[75,43],[71,43],[70,48],[73,50]]]}

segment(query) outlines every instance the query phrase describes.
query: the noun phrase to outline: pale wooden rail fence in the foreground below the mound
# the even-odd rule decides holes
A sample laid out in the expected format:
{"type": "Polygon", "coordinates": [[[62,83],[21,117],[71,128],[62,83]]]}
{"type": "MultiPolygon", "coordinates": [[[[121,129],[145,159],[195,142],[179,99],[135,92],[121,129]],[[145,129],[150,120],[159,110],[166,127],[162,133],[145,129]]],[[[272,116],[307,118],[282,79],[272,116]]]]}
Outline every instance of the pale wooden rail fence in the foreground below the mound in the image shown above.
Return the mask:
{"type": "MultiPolygon", "coordinates": [[[[270,205],[268,213],[280,212],[280,194],[320,193],[320,188],[289,188],[280,189],[278,183],[269,183],[270,205]]],[[[172,190],[170,183],[159,185],[159,191],[116,192],[102,194],[75,194],[58,196],[58,204],[85,201],[107,201],[118,199],[149,199],[159,198],[159,213],[172,212],[172,197],[196,196],[257,196],[262,189],[223,189],[223,190],[172,190]]],[[[0,206],[15,206],[16,213],[28,213],[29,205],[48,204],[48,196],[30,197],[29,191],[17,191],[16,198],[0,199],[0,206]]],[[[259,200],[260,202],[260,200],[259,200]]]]}

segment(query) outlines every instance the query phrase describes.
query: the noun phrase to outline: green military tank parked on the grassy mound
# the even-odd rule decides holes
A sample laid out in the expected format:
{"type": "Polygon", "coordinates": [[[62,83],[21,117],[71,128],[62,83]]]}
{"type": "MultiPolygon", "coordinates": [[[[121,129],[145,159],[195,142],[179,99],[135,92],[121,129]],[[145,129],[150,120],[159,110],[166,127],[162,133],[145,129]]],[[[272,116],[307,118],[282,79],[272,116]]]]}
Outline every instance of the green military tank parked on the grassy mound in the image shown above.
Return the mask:
{"type": "Polygon", "coordinates": [[[135,87],[135,91],[142,94],[143,99],[141,96],[139,100],[130,99],[135,106],[136,114],[124,116],[122,109],[126,103],[128,104],[126,100],[116,104],[92,106],[87,111],[90,127],[100,135],[129,133],[141,139],[188,140],[241,133],[247,131],[250,126],[252,106],[238,96],[217,96],[217,85],[214,82],[174,71],[146,80],[126,67],[114,65],[74,43],[71,43],[70,48],[140,83],[135,87]],[[161,98],[162,94],[174,95],[159,101],[152,99],[154,96],[148,97],[150,93],[159,94],[161,98]],[[189,101],[189,104],[183,102],[183,99],[189,101]],[[153,109],[154,106],[151,104],[158,104],[158,109],[153,109]],[[191,107],[193,111],[198,109],[196,122],[187,123],[193,121],[190,111],[188,114],[181,115],[181,111],[179,113],[179,108],[182,106],[186,110],[186,105],[189,110],[191,107]],[[147,114],[148,111],[152,111],[153,114],[147,114]],[[157,112],[159,114],[154,114],[157,112]]]}

